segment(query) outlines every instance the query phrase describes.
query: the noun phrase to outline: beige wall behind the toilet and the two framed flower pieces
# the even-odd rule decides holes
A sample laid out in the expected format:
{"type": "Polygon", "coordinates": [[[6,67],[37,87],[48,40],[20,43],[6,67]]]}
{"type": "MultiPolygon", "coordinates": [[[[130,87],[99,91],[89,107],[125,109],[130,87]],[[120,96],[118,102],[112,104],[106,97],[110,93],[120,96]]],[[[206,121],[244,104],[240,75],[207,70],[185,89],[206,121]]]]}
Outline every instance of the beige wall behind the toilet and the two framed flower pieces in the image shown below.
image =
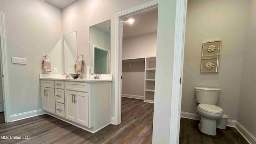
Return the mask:
{"type": "Polygon", "coordinates": [[[221,88],[220,106],[237,119],[246,49],[249,1],[188,0],[186,19],[182,111],[196,112],[194,86],[221,88]],[[202,43],[222,39],[218,73],[200,73],[202,43]]]}

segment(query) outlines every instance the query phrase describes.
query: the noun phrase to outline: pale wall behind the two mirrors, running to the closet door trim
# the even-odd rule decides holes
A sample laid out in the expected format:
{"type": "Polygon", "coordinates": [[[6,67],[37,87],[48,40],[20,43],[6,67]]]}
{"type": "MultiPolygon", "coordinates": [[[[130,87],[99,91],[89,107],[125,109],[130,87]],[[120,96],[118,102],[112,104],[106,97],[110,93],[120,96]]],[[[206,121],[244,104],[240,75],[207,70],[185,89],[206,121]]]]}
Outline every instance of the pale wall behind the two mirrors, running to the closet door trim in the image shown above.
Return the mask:
{"type": "MultiPolygon", "coordinates": [[[[62,10],[63,34],[77,31],[78,55],[84,54],[89,65],[89,26],[111,20],[110,74],[115,74],[116,13],[150,0],[78,0],[62,10]]],[[[112,82],[111,116],[114,116],[114,81],[112,82]]]]}

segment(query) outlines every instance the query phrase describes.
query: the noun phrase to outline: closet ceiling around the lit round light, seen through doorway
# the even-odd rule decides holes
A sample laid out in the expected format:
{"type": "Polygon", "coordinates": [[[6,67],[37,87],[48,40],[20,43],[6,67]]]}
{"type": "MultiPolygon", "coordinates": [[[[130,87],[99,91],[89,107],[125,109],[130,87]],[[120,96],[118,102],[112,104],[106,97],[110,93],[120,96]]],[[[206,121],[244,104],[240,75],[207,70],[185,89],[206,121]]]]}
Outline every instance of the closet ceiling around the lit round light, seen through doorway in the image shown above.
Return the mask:
{"type": "Polygon", "coordinates": [[[157,16],[158,9],[124,19],[123,38],[157,32],[157,16]],[[129,18],[135,20],[133,24],[128,23],[129,18]]]}

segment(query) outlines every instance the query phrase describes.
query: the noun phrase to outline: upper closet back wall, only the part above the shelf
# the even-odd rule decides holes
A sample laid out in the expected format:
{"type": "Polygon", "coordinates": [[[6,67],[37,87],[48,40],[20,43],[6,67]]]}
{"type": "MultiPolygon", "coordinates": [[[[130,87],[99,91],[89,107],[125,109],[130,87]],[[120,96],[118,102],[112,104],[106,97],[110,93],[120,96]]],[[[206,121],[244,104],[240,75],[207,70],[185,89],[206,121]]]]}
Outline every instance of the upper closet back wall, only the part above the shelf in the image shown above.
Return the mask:
{"type": "Polygon", "coordinates": [[[123,59],[156,56],[157,32],[123,38],[123,59]]]}

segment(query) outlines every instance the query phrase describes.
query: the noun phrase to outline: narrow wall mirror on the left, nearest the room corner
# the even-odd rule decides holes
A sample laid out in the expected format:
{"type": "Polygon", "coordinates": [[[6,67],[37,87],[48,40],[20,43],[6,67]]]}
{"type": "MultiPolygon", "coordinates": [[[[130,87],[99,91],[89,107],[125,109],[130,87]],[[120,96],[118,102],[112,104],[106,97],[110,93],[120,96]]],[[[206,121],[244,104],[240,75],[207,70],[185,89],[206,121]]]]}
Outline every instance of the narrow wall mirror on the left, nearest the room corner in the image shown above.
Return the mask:
{"type": "Polygon", "coordinates": [[[63,64],[64,73],[76,73],[77,36],[76,31],[63,36],[63,64]]]}

